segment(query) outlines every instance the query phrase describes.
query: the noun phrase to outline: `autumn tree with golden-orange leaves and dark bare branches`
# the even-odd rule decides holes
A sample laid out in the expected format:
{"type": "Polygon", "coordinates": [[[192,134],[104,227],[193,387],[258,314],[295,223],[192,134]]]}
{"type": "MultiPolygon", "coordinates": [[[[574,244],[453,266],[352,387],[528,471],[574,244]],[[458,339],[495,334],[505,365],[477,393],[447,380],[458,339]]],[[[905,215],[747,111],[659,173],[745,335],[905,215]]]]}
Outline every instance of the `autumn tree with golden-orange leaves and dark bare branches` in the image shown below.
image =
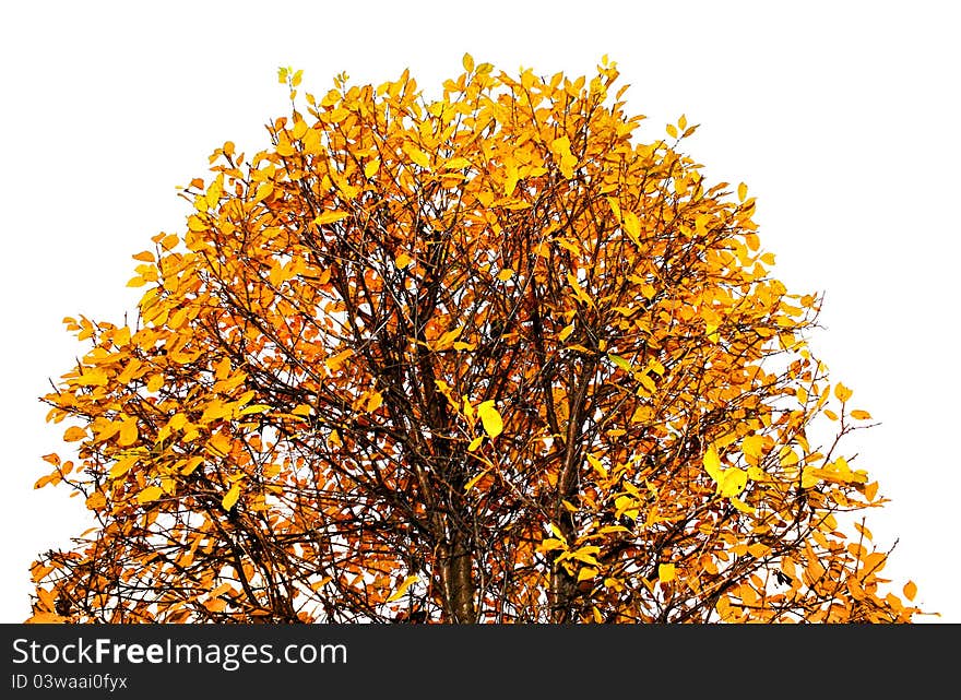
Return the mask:
{"type": "Polygon", "coordinates": [[[34,563],[34,619],[911,621],[841,452],[870,416],[746,186],[684,117],[638,142],[606,58],[464,69],[306,114],[282,69],[271,147],[217,149],[134,256],[135,321],[66,320],[80,466],[38,485],[97,526],[34,563]]]}

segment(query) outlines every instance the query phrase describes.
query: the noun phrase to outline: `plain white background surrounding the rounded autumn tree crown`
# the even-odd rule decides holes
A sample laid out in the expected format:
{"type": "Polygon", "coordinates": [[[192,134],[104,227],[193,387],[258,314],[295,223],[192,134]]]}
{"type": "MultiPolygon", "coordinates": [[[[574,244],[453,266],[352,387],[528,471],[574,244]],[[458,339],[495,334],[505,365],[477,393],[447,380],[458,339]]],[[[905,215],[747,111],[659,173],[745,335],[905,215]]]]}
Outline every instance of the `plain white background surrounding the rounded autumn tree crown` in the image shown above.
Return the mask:
{"type": "Polygon", "coordinates": [[[183,230],[175,186],[225,140],[252,154],[301,91],[406,67],[439,95],[470,51],[497,69],[591,75],[604,54],[657,139],[686,114],[712,181],[758,198],[792,292],[823,290],[814,339],[852,405],[882,422],[849,449],[891,498],[868,525],[886,572],[961,621],[958,335],[961,41],[952,2],[10,2],[0,28],[2,342],[0,621],[29,615],[28,566],[83,531],[82,503],[34,490],[66,452],[37,396],[85,352],[64,316],[119,320],[130,256],[183,230]]]}

